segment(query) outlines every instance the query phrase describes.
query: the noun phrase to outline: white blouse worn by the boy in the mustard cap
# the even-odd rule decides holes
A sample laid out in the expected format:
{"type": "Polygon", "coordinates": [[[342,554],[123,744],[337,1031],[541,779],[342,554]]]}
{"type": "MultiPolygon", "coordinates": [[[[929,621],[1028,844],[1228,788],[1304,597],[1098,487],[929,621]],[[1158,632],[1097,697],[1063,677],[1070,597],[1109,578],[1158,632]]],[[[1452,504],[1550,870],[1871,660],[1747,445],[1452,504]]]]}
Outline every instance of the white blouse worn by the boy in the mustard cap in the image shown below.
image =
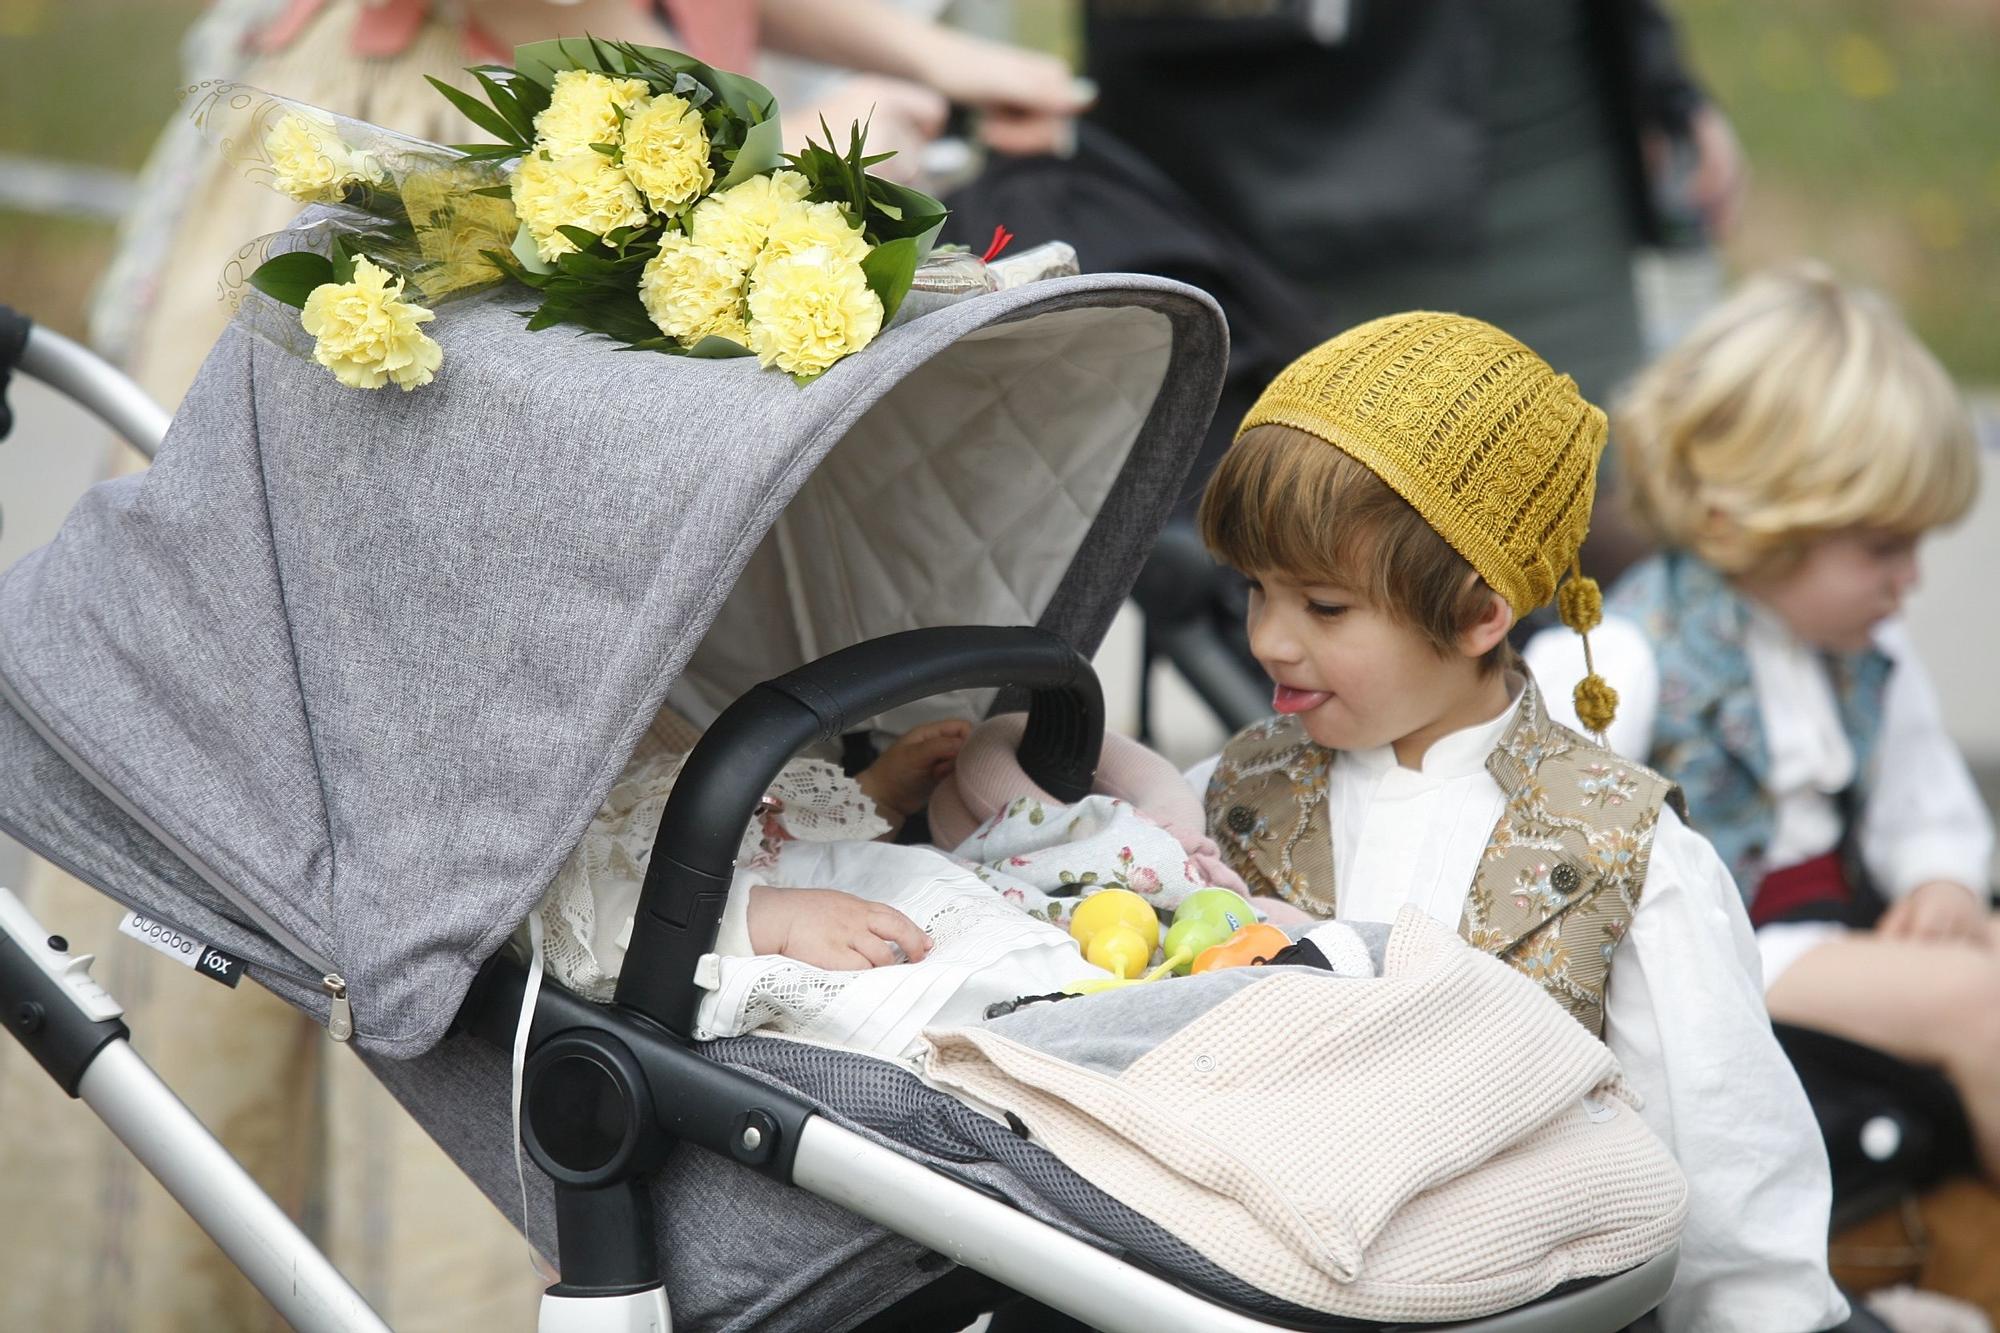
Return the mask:
{"type": "MultiPolygon", "coordinates": [[[[1458,927],[1506,807],[1486,757],[1512,717],[1514,707],[1440,739],[1422,769],[1402,769],[1388,747],[1336,757],[1328,827],[1342,921],[1394,921],[1416,903],[1458,927]]],[[[1196,791],[1214,765],[1188,771],[1196,791]]],[[[1688,1173],[1664,1329],[1804,1331],[1844,1319],[1826,1273],[1826,1151],[1770,1031],[1750,919],[1722,859],[1672,811],[1660,815],[1640,909],[1612,963],[1604,1041],[1688,1173]]]]}

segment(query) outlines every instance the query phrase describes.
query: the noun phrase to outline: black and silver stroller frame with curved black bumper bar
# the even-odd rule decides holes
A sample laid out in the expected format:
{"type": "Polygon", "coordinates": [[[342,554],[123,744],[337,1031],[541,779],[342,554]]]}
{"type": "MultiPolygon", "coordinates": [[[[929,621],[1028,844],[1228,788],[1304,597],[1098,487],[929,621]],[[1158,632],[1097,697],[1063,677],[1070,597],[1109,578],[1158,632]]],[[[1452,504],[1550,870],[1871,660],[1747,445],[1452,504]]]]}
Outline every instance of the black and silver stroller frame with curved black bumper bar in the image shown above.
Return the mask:
{"type": "MultiPolygon", "coordinates": [[[[118,370],[46,330],[24,334],[18,364],[152,454],[164,414],[146,412],[144,394],[118,370]]],[[[1280,1327],[900,1157],[688,1045],[700,999],[694,961],[714,947],[738,833],[778,769],[806,745],[890,707],[974,687],[1026,689],[1024,769],[1058,799],[1088,791],[1104,721],[1098,681],[1074,648],[1034,628],[906,630],[834,652],[752,689],[690,755],[688,781],[676,785],[662,815],[662,851],[648,867],[616,1003],[586,1003],[560,987],[532,997],[520,1047],[522,1145],[556,1181],[562,1269],[544,1297],[544,1333],[672,1327],[642,1183],[676,1141],[838,1203],[1094,1327],[1280,1327]]],[[[0,1015],[8,1031],[112,1127],[288,1321],[300,1329],[384,1329],[132,1053],[118,1003],[88,967],[90,957],[70,957],[66,941],[0,891],[0,1015]]],[[[502,1051],[516,1049],[528,987],[518,965],[496,957],[468,993],[458,1025],[502,1051]]],[[[1670,1249],[1638,1269],[1500,1315],[1422,1327],[1608,1333],[1666,1295],[1674,1261],[1670,1249]]]]}

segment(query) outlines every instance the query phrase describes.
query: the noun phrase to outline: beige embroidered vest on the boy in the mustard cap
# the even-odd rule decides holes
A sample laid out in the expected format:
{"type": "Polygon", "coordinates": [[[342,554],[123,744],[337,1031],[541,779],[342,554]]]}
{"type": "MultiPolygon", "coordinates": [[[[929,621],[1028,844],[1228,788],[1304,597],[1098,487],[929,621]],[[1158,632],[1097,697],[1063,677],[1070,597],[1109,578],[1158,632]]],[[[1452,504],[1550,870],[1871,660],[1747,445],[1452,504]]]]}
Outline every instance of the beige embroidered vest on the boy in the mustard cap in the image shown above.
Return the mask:
{"type": "MultiPolygon", "coordinates": [[[[1332,751],[1294,717],[1238,733],[1208,783],[1208,831],[1252,893],[1336,915],[1326,819],[1332,751]]],[[[1506,809],[1486,841],[1458,933],[1506,959],[1604,1035],[1604,981],[1646,887],[1664,777],[1550,721],[1530,681],[1486,757],[1506,809]]],[[[1684,815],[1684,811],[1680,811],[1684,815]]]]}

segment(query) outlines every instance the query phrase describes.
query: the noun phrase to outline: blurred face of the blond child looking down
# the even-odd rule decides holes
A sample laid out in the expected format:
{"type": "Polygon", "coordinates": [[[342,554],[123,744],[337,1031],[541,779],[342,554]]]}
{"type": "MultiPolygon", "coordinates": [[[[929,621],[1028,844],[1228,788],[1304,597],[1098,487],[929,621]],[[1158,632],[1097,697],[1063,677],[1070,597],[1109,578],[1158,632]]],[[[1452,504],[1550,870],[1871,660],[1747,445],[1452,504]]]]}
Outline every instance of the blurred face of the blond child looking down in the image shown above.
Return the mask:
{"type": "Polygon", "coordinates": [[[1806,546],[1804,558],[1784,574],[1744,578],[1744,590],[1806,642],[1858,652],[1916,586],[1916,540],[1864,528],[1834,532],[1806,546]]]}

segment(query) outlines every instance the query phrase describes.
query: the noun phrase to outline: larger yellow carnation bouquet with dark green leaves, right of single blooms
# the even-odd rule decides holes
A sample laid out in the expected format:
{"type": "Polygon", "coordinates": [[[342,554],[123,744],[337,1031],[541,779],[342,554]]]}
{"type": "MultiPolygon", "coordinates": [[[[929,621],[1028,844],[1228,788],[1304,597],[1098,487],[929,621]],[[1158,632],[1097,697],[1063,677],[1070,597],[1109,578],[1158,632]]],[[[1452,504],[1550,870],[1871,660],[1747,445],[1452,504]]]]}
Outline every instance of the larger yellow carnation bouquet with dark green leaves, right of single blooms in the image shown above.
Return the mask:
{"type": "MultiPolygon", "coordinates": [[[[624,42],[522,46],[438,84],[516,156],[520,234],[494,264],[542,292],[530,328],[580,324],[634,348],[754,354],[806,382],[868,346],[930,252],[944,206],[846,152],[780,156],[770,92],[692,56],[624,42]]],[[[436,80],[432,80],[436,82],[436,80]]]]}

